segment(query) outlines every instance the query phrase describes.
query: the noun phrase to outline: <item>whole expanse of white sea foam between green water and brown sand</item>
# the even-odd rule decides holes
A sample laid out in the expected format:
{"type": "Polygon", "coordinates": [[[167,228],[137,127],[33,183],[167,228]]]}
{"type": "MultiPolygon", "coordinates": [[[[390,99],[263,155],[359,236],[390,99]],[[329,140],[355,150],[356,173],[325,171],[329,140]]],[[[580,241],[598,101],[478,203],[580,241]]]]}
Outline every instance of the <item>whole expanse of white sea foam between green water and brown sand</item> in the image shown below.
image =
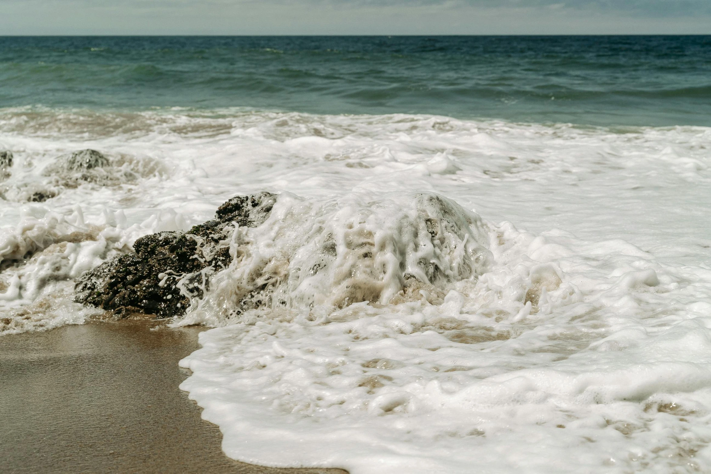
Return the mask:
{"type": "Polygon", "coordinates": [[[353,474],[706,472],[710,141],[705,127],[6,109],[6,189],[45,183],[42,170],[77,149],[160,171],[59,183],[41,212],[2,201],[0,251],[36,257],[0,274],[24,279],[0,296],[46,327],[80,322],[67,303],[80,268],[269,190],[281,193],[272,216],[237,229],[235,261],[176,321],[220,326],[181,362],[193,370],[181,387],[220,426],[228,456],[353,474]],[[417,201],[432,193],[447,212],[417,201]],[[70,242],[77,204],[96,227],[70,242]],[[456,229],[437,247],[422,218],[444,215],[456,229]],[[348,246],[356,231],[370,256],[348,246]],[[475,246],[486,265],[454,271],[465,254],[444,242],[475,246]],[[408,247],[449,276],[395,291],[422,270],[408,247]],[[377,302],[347,304],[341,285],[359,275],[360,296],[377,302]]]}

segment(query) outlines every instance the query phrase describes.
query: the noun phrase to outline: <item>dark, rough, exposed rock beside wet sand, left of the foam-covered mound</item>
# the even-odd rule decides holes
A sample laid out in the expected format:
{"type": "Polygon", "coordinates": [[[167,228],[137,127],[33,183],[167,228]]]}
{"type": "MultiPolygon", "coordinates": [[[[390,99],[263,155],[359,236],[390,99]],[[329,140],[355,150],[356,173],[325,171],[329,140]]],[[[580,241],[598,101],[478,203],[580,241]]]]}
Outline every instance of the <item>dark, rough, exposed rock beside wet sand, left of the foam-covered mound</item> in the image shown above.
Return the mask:
{"type": "Polygon", "coordinates": [[[186,233],[159,232],[134,243],[134,254],[105,262],[83,274],[76,301],[122,313],[161,318],[181,315],[189,296],[201,296],[215,271],[232,261],[230,235],[237,224],[257,227],[267,220],[276,195],[237,196],[218,208],[214,220],[186,233]]]}

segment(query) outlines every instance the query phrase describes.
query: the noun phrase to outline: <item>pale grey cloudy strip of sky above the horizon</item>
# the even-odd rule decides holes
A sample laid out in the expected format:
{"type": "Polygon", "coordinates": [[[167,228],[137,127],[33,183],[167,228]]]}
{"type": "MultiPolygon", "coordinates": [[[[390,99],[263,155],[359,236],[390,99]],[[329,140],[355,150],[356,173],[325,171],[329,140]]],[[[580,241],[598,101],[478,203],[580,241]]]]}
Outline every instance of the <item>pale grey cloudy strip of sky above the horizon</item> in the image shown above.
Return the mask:
{"type": "Polygon", "coordinates": [[[0,0],[5,35],[711,34],[711,0],[0,0]]]}

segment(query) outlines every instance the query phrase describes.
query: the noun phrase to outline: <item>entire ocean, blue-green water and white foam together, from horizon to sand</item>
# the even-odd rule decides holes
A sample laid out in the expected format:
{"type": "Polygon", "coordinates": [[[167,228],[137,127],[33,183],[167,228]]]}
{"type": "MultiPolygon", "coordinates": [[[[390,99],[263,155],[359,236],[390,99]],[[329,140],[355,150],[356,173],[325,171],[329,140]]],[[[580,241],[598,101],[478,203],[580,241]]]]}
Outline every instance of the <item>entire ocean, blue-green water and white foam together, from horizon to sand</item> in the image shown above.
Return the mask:
{"type": "Polygon", "coordinates": [[[1,151],[8,338],[277,195],[166,320],[231,458],[711,470],[710,36],[4,37],[1,151]]]}

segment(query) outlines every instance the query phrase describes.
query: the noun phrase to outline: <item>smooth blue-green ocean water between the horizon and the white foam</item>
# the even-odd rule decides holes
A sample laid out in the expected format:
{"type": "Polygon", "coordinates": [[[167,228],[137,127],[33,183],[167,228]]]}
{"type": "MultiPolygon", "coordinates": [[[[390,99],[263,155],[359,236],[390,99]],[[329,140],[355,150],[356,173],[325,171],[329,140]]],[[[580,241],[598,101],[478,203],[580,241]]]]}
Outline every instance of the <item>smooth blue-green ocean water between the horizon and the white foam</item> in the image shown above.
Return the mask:
{"type": "Polygon", "coordinates": [[[711,36],[0,38],[28,105],[711,125],[711,36]]]}

